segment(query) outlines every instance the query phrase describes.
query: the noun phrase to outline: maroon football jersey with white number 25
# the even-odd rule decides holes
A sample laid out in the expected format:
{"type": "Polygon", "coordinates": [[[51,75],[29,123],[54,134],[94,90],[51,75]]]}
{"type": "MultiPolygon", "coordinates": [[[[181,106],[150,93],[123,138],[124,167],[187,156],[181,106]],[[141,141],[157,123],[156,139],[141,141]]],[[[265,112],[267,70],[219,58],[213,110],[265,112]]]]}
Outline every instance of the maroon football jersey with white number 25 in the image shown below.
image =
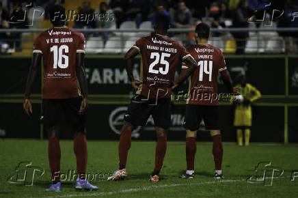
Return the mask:
{"type": "Polygon", "coordinates": [[[141,52],[140,81],[137,94],[146,98],[169,98],[177,64],[190,56],[178,42],[156,34],[143,37],[133,46],[141,52]]]}

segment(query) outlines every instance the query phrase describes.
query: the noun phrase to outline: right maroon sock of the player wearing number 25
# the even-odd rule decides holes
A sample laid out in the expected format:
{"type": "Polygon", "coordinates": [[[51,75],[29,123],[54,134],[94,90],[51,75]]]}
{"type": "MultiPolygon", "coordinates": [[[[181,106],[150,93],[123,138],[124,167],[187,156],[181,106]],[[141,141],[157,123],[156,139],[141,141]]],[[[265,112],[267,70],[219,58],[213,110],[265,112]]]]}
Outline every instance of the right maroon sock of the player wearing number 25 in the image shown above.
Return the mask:
{"type": "MultiPolygon", "coordinates": [[[[155,150],[155,167],[154,171],[161,171],[163,166],[163,158],[165,157],[165,152],[167,151],[167,137],[157,137],[157,147],[155,150]]],[[[158,173],[156,174],[158,175],[158,173]]]]}

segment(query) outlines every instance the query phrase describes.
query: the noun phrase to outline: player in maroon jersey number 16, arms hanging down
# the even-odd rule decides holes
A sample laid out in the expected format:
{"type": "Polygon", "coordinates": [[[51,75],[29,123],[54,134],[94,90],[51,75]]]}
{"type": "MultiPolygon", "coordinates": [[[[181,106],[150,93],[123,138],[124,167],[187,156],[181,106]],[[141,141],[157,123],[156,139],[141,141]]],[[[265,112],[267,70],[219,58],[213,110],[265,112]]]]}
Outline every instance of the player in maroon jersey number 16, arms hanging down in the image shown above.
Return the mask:
{"type": "Polygon", "coordinates": [[[65,27],[65,10],[54,5],[50,10],[53,28],[40,33],[33,44],[33,58],[25,90],[23,107],[32,113],[29,96],[43,58],[43,87],[41,122],[49,137],[49,164],[52,185],[46,191],[59,192],[60,146],[62,124],[70,124],[74,132],[74,154],[77,157],[75,188],[96,190],[85,178],[87,145],[85,137],[85,110],[87,108],[87,81],[85,79],[85,38],[82,33],[65,27]]]}

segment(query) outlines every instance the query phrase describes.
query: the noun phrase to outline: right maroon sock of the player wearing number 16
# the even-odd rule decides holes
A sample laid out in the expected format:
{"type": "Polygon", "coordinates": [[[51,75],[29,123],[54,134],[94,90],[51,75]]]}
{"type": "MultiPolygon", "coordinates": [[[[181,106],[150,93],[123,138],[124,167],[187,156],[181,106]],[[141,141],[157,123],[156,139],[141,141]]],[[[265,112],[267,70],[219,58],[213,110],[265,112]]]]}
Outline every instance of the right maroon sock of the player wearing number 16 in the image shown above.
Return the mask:
{"type": "Polygon", "coordinates": [[[85,135],[74,137],[74,154],[77,157],[77,174],[81,180],[85,179],[87,166],[87,142],[85,135]]]}

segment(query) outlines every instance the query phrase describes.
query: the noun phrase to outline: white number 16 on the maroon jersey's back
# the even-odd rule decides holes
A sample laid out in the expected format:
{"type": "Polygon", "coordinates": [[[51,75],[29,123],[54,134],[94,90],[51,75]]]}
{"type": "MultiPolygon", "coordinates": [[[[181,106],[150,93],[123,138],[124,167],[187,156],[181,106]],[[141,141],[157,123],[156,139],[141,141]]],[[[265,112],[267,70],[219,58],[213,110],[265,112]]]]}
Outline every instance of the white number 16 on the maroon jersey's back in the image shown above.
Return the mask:
{"type": "Polygon", "coordinates": [[[51,47],[51,52],[53,52],[53,57],[54,57],[54,63],[53,63],[54,69],[57,69],[57,66],[62,69],[68,68],[68,56],[63,54],[63,53],[68,53],[67,45],[64,44],[59,48],[57,45],[54,45],[51,47]],[[62,63],[63,62],[62,59],[64,59],[64,63],[62,63]]]}

